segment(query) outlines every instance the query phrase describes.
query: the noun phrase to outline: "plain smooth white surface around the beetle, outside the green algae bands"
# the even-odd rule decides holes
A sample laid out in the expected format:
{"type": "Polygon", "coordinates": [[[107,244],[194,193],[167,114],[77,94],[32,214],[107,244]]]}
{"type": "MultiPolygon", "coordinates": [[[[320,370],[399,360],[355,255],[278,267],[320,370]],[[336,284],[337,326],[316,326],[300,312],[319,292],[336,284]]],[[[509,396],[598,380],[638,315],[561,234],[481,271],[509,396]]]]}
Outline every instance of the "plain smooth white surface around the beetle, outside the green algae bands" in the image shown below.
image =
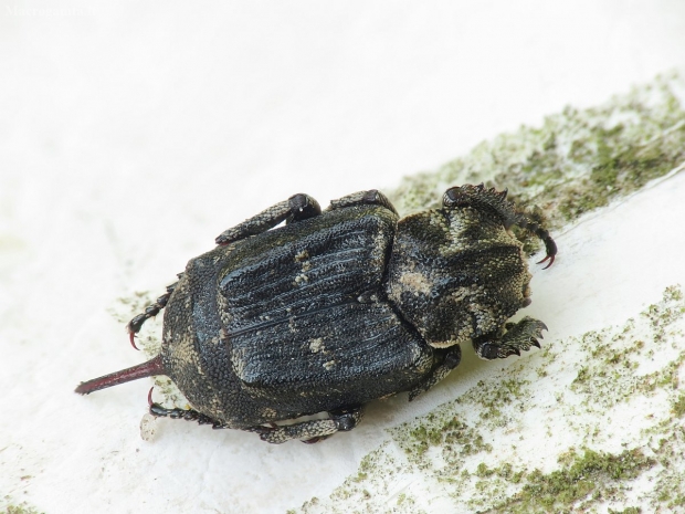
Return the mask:
{"type": "MultiPolygon", "coordinates": [[[[283,512],[325,496],[454,382],[314,447],[183,422],[149,443],[147,382],[72,392],[141,358],[107,314],[116,298],[161,292],[214,235],[294,192],[391,188],[685,62],[679,1],[81,6],[0,2],[0,495],[49,513],[283,512]]],[[[531,314],[582,332],[656,300],[682,273],[677,248],[655,262],[658,223],[643,216],[663,219],[665,195],[683,198],[683,178],[625,206],[637,225],[562,235],[531,314]],[[634,243],[642,225],[652,243],[634,243]],[[598,290],[556,298],[580,263],[598,290]]]]}

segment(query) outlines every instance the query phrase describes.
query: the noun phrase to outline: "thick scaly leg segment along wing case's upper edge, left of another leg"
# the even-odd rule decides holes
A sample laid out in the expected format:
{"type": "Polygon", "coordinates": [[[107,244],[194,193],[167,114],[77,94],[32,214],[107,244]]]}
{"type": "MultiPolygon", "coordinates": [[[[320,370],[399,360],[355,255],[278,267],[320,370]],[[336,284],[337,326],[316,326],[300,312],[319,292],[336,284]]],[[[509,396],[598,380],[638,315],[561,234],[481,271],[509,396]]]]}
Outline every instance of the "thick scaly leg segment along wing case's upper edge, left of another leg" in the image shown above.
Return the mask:
{"type": "Polygon", "coordinates": [[[309,195],[294,195],[287,200],[276,203],[268,209],[263,210],[256,216],[236,224],[235,227],[224,230],[215,239],[217,244],[229,244],[241,239],[256,235],[273,229],[278,223],[286,221],[292,223],[295,221],[306,220],[322,213],[318,202],[309,195]]]}

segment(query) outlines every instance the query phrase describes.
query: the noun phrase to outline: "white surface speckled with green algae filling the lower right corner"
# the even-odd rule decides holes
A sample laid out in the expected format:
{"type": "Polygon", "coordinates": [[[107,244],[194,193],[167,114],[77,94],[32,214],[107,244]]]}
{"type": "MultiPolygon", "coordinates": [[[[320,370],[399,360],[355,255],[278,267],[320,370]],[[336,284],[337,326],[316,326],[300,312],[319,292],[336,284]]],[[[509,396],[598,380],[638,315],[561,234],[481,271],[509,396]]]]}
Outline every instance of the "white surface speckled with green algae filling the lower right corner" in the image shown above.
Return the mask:
{"type": "Polygon", "coordinates": [[[622,326],[557,340],[390,430],[292,512],[683,512],[684,333],[667,287],[622,326]]]}

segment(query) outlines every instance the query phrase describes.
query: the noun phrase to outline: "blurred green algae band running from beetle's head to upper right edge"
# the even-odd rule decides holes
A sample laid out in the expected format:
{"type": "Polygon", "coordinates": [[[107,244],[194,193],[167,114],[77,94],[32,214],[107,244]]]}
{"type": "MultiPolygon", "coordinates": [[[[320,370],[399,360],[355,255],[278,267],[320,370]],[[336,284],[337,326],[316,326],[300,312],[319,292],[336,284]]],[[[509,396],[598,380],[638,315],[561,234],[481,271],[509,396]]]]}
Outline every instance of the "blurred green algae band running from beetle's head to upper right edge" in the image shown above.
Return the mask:
{"type": "MultiPolygon", "coordinates": [[[[400,213],[440,206],[451,186],[485,182],[558,229],[685,162],[685,80],[658,76],[598,107],[566,107],[541,126],[481,143],[433,172],[407,177],[390,199],[400,213]]],[[[523,235],[518,234],[517,235],[523,235]]],[[[525,239],[527,251],[538,248],[525,239]]]]}

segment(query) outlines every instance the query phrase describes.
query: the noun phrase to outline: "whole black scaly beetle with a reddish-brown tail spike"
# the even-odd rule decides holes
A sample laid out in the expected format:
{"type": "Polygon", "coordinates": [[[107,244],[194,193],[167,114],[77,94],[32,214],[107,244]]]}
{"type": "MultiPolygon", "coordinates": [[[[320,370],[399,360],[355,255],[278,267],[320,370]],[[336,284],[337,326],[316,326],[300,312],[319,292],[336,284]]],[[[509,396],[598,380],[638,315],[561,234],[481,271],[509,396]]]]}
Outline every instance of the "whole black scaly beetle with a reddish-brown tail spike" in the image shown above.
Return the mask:
{"type": "Polygon", "coordinates": [[[462,343],[488,360],[539,348],[542,322],[507,323],[530,303],[531,276],[509,229],[541,239],[546,268],[557,245],[506,196],[452,187],[441,208],[400,219],[377,190],[324,211],[295,195],[221,233],[130,321],[135,346],[165,308],[159,355],[76,392],[167,375],[191,409],[149,399],[155,417],[316,442],[357,427],[371,400],[431,389],[459,365],[462,343]],[[316,413],[324,419],[298,419],[316,413]]]}

